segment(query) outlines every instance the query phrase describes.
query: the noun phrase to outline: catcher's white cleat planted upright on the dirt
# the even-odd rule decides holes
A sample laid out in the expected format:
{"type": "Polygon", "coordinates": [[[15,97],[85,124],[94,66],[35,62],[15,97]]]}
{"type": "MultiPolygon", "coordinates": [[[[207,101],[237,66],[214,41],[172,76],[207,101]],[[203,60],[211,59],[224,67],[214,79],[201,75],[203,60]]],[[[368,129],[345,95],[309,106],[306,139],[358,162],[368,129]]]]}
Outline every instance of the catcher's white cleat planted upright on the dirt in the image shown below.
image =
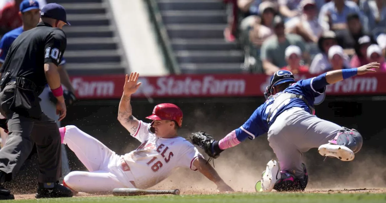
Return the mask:
{"type": "Polygon", "coordinates": [[[258,184],[259,181],[257,181],[255,189],[256,191],[270,192],[273,190],[273,186],[280,178],[281,173],[278,162],[272,159],[268,162],[266,170],[262,174],[260,184],[258,184]]]}

